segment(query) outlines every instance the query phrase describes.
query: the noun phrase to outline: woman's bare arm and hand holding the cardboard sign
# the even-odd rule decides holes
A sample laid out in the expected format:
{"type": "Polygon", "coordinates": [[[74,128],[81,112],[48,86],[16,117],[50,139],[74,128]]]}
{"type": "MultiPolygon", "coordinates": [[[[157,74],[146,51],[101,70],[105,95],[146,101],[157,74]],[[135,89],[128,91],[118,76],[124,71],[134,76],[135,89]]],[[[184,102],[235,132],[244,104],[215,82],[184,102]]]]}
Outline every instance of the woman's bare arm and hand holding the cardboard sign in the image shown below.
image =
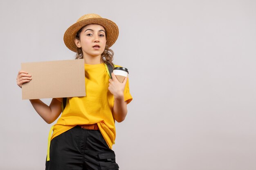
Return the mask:
{"type": "MultiPolygon", "coordinates": [[[[25,71],[19,71],[16,78],[17,85],[22,88],[22,84],[31,80],[31,75],[25,71]]],[[[62,98],[53,98],[51,104],[48,106],[40,99],[30,100],[32,106],[36,112],[47,122],[48,124],[54,122],[61,114],[61,102],[62,98]]]]}

